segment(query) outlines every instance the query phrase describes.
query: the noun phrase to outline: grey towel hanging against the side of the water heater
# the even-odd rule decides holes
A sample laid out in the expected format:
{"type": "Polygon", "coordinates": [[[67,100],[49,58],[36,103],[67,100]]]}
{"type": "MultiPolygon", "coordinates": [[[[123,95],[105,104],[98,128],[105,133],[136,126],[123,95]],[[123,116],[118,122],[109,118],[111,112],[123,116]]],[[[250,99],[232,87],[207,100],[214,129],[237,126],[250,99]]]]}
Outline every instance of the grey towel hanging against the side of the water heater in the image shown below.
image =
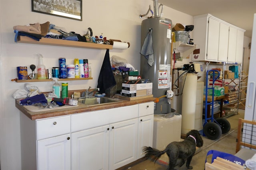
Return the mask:
{"type": "Polygon", "coordinates": [[[140,54],[144,55],[145,58],[148,60],[148,64],[152,66],[154,64],[154,50],[153,50],[153,39],[152,39],[152,31],[153,29],[150,28],[148,30],[148,34],[144,39],[144,43],[141,47],[140,54]]]}

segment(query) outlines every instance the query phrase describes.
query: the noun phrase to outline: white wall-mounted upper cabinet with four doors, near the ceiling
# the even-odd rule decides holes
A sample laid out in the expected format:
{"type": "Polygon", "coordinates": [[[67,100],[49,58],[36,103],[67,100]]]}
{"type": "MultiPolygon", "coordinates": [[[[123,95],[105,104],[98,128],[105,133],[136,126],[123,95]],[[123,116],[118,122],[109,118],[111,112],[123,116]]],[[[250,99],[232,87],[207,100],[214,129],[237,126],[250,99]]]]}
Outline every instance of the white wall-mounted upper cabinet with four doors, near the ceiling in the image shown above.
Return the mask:
{"type": "Polygon", "coordinates": [[[242,62],[244,29],[210,14],[194,17],[193,39],[200,54],[192,61],[242,62]]]}

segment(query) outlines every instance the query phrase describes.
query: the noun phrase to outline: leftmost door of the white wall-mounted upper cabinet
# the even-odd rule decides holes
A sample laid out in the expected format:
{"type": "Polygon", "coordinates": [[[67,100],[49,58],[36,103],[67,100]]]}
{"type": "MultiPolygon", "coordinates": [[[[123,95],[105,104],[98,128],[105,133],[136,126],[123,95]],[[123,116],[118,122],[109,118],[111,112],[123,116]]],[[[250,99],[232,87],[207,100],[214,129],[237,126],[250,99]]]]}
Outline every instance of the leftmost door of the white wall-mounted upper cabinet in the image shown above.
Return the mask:
{"type": "Polygon", "coordinates": [[[208,21],[208,48],[206,58],[212,61],[218,59],[220,22],[212,18],[209,18],[208,21]]]}

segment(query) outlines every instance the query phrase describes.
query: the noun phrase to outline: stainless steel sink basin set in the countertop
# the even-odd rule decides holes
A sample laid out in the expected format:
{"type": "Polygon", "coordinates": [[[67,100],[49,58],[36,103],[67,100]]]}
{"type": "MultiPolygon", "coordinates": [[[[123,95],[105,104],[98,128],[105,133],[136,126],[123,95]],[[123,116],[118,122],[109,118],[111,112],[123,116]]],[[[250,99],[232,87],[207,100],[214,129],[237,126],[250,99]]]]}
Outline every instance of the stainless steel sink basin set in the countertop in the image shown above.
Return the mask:
{"type": "Polygon", "coordinates": [[[80,104],[85,104],[87,106],[92,106],[92,105],[102,105],[102,104],[109,104],[109,103],[115,103],[115,102],[120,102],[118,100],[106,98],[106,97],[101,97],[101,98],[83,98],[83,99],[78,99],[78,102],[80,104]]]}

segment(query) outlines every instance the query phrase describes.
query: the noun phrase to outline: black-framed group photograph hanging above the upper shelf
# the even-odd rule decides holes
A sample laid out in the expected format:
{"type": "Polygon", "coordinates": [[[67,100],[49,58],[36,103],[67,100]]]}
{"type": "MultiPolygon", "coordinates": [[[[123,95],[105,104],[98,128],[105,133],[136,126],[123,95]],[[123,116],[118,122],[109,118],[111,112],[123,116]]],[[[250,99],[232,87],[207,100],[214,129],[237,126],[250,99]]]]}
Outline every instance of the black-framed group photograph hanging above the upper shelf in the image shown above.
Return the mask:
{"type": "Polygon", "coordinates": [[[32,0],[32,12],[82,21],[82,0],[32,0]]]}

